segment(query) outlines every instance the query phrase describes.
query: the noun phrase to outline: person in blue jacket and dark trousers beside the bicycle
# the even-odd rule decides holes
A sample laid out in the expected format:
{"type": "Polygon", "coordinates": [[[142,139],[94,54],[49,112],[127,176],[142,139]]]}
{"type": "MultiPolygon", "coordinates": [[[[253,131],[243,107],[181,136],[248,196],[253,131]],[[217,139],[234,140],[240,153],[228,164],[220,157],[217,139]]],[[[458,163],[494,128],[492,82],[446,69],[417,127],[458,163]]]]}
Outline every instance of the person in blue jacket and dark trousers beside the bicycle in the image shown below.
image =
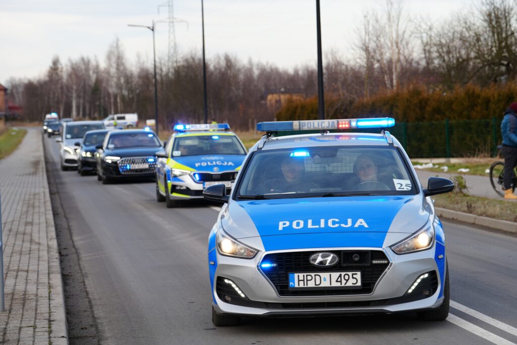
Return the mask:
{"type": "Polygon", "coordinates": [[[505,199],[517,200],[517,196],[513,194],[511,188],[513,168],[517,165],[517,102],[511,103],[506,110],[501,123],[501,134],[503,134],[501,152],[505,158],[503,181],[505,199]]]}

